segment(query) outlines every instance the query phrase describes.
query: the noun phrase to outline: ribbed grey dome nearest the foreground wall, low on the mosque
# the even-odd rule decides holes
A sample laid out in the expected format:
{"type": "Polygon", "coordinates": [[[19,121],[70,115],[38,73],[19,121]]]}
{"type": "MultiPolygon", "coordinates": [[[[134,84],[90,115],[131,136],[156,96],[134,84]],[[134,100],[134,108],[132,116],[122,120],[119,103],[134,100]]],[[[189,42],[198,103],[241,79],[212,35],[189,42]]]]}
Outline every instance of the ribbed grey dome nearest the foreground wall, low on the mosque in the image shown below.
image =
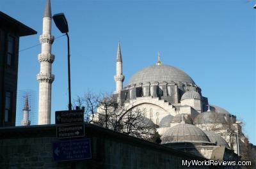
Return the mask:
{"type": "Polygon", "coordinates": [[[161,137],[161,143],[209,143],[209,138],[202,129],[192,124],[178,124],[168,129],[161,137]]]}

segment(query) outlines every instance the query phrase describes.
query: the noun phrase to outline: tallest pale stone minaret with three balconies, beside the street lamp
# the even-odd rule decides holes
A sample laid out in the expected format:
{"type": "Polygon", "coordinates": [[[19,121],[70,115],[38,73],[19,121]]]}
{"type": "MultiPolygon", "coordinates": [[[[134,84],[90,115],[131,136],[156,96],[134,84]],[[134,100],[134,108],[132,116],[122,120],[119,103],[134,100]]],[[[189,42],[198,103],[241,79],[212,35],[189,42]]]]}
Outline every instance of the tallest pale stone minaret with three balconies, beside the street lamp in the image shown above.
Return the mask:
{"type": "Polygon", "coordinates": [[[40,73],[37,75],[39,82],[39,103],[38,103],[38,124],[51,123],[51,93],[52,82],[52,62],[54,55],[51,54],[51,47],[54,36],[51,35],[51,1],[46,0],[46,6],[43,17],[43,33],[40,35],[42,52],[38,55],[40,62],[40,73]]]}

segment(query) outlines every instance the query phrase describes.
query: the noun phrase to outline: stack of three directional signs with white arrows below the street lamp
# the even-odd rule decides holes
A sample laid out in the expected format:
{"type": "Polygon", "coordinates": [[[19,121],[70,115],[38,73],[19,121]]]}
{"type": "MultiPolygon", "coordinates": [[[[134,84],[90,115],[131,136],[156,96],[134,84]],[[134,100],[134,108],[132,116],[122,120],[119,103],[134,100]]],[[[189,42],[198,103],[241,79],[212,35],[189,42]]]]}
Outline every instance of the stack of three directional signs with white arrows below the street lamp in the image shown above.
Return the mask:
{"type": "Polygon", "coordinates": [[[91,159],[91,140],[84,137],[84,110],[62,110],[55,112],[56,138],[70,138],[62,142],[54,142],[54,161],[73,161],[78,159],[91,159]]]}

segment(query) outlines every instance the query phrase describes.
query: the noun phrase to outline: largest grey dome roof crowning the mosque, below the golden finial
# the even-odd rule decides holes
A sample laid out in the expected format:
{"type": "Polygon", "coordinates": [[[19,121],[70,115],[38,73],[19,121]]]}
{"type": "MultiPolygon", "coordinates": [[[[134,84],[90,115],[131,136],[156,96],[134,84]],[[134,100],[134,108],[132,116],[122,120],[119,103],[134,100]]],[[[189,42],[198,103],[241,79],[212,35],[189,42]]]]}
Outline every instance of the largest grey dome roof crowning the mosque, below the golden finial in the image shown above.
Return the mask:
{"type": "Polygon", "coordinates": [[[173,66],[160,64],[148,66],[138,71],[130,78],[127,85],[148,82],[187,82],[188,84],[195,84],[184,71],[173,66]]]}

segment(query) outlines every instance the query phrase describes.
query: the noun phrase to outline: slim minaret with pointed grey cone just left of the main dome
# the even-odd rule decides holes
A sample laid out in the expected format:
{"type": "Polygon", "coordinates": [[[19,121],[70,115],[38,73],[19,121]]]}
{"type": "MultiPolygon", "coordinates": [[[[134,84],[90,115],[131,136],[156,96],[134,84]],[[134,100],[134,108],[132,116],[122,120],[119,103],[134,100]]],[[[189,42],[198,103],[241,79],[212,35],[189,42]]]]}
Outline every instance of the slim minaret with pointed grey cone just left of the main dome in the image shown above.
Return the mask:
{"type": "Polygon", "coordinates": [[[115,93],[119,93],[123,89],[123,82],[124,82],[124,75],[123,75],[123,68],[122,68],[122,54],[121,54],[121,47],[120,42],[118,41],[118,48],[116,54],[116,91],[115,93]]]}

